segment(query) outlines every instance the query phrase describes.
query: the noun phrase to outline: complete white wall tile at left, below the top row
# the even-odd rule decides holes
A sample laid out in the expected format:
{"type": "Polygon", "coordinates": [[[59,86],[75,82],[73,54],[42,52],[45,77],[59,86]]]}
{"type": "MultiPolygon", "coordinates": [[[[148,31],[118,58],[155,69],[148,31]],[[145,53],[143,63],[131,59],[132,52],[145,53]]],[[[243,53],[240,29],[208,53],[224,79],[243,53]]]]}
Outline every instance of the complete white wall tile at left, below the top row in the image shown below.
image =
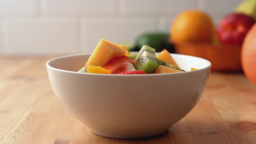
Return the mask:
{"type": "Polygon", "coordinates": [[[77,52],[77,22],[74,19],[5,20],[3,29],[7,53],[77,52]]]}

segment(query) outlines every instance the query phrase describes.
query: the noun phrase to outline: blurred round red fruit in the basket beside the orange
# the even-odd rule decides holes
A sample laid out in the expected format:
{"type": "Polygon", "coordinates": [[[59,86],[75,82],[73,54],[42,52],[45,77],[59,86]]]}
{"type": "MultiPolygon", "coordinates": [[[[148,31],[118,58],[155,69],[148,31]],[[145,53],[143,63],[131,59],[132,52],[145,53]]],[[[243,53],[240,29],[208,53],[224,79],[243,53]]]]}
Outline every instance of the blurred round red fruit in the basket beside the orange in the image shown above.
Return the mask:
{"type": "Polygon", "coordinates": [[[242,45],[246,33],[253,26],[255,20],[242,13],[230,13],[217,26],[217,36],[221,43],[242,45]]]}

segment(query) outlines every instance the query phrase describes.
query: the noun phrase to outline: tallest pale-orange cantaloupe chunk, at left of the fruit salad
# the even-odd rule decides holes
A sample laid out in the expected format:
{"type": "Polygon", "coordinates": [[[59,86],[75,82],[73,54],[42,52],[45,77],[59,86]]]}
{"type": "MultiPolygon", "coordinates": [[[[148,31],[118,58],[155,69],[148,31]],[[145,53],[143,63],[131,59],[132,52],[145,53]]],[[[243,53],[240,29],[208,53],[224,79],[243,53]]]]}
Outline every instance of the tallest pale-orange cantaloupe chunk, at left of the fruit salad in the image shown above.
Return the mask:
{"type": "Polygon", "coordinates": [[[121,46],[109,42],[106,39],[100,39],[92,55],[86,62],[85,68],[87,69],[89,65],[104,67],[109,60],[118,56],[125,56],[125,54],[126,50],[122,49],[121,46]]]}

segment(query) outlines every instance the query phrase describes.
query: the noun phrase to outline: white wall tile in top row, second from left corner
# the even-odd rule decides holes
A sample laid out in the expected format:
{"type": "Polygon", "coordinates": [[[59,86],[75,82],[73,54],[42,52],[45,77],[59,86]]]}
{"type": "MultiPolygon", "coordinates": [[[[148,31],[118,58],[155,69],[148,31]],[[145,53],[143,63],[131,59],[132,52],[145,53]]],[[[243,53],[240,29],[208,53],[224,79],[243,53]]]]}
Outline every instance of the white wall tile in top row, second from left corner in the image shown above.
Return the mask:
{"type": "Polygon", "coordinates": [[[47,14],[115,14],[115,0],[42,0],[47,14]]]}

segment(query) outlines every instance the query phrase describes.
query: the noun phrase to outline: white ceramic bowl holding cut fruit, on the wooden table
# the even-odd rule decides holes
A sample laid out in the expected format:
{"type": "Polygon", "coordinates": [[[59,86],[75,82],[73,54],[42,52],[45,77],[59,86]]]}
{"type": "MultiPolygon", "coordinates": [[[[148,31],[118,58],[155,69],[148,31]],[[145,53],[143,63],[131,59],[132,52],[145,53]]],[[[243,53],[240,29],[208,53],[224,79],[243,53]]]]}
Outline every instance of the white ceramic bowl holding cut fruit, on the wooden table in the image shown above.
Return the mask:
{"type": "Polygon", "coordinates": [[[93,133],[112,138],[162,134],[199,101],[211,63],[172,54],[191,72],[149,75],[105,75],[77,72],[89,54],[62,56],[46,63],[59,101],[93,133]]]}

